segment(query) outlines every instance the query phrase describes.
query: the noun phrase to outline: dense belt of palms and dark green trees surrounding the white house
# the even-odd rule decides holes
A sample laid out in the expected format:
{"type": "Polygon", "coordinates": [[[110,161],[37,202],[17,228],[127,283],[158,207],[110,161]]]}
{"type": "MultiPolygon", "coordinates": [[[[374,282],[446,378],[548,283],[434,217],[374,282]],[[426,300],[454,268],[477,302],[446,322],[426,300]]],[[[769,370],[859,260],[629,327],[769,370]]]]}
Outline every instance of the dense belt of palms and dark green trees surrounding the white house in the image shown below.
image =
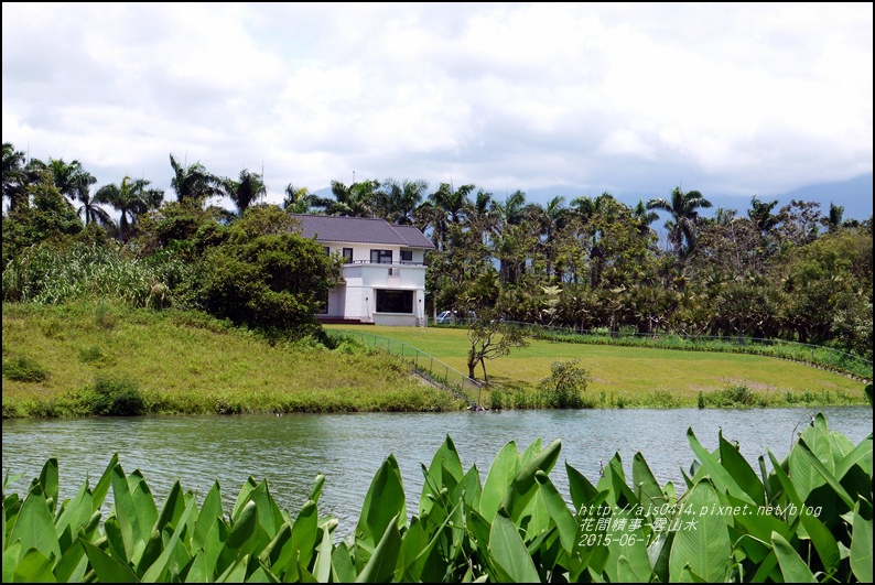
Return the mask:
{"type": "Polygon", "coordinates": [[[96,178],[78,161],[26,161],[3,143],[4,300],[24,299],[20,286],[7,286],[18,278],[7,271],[21,271],[34,247],[63,254],[76,242],[116,239],[127,261],[159,273],[166,262],[187,268],[153,279],[150,290],[158,286],[168,304],[306,331],[313,323],[301,314],[324,300],[337,273],[315,249],[271,226],[284,225],[283,213],[325,213],[421,228],[435,245],[426,258],[433,314],[494,311],[506,321],[576,329],[775,338],[872,360],[872,218],[843,221],[835,205],[824,213],[802,201],[779,208],[754,196],[748,209],[705,217],[706,196],[680,188],[635,207],[609,193],[542,205],[522,192],[500,201],[473,184],[429,193],[424,181],[387,178],[334,181],[331,197],[290,184],[280,208],[259,203],[264,185],[248,170],[229,178],[172,154],[170,162],[176,201],[130,177],[93,196],[96,178]],[[210,204],[216,197],[236,209],[210,204]],[[662,243],[651,227],[660,213],[668,216],[662,243]],[[311,271],[300,272],[303,284],[281,277],[301,270],[311,271]]]}

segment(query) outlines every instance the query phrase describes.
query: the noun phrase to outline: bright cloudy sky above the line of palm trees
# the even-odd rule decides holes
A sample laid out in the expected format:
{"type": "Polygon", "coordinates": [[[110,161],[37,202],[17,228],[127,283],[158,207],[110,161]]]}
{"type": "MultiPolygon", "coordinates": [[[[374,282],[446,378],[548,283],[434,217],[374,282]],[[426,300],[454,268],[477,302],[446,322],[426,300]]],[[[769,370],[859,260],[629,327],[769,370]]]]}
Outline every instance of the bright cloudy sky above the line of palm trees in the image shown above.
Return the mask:
{"type": "Polygon", "coordinates": [[[274,203],[409,178],[746,208],[873,171],[872,3],[2,10],[3,142],[169,198],[170,153],[263,169],[274,203]]]}

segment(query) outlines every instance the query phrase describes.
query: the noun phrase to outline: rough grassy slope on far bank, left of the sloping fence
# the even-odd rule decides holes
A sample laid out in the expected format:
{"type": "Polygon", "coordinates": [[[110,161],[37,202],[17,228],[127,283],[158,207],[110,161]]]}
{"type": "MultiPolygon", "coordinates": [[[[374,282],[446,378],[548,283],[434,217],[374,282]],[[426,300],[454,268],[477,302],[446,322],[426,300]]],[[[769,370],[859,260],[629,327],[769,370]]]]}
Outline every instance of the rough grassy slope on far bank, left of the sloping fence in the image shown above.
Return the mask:
{"type": "Polygon", "coordinates": [[[466,404],[353,345],[270,345],[201,314],[3,304],[3,418],[440,411],[466,404]]]}

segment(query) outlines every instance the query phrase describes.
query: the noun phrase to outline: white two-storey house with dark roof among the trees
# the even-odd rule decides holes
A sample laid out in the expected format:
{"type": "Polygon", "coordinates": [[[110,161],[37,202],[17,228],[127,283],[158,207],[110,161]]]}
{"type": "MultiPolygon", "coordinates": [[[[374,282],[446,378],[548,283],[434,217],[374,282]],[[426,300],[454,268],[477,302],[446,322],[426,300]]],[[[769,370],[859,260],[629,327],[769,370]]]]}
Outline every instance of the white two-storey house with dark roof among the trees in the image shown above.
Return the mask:
{"type": "Polygon", "coordinates": [[[414,226],[385,219],[294,215],[305,238],[344,259],[344,282],[332,289],[318,318],[376,325],[425,326],[425,250],[414,226]]]}

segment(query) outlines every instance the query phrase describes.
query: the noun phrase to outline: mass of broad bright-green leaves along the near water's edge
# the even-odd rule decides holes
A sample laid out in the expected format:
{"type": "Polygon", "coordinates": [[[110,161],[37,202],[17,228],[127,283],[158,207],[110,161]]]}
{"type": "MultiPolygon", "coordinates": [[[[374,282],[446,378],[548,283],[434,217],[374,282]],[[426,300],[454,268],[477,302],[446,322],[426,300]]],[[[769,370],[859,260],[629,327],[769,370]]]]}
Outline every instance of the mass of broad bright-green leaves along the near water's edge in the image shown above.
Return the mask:
{"type": "Polygon", "coordinates": [[[50,459],[23,500],[4,483],[3,582],[872,582],[872,435],[853,445],[819,414],[759,473],[722,432],[713,452],[688,440],[682,496],[617,454],[596,484],[565,464],[569,503],[559,440],[508,443],[482,481],[447,436],[412,513],[390,455],[344,539],[317,511],[324,476],[295,517],[252,478],[226,514],[218,483],[198,506],[176,481],[159,508],[114,456],[58,506],[50,459]]]}

